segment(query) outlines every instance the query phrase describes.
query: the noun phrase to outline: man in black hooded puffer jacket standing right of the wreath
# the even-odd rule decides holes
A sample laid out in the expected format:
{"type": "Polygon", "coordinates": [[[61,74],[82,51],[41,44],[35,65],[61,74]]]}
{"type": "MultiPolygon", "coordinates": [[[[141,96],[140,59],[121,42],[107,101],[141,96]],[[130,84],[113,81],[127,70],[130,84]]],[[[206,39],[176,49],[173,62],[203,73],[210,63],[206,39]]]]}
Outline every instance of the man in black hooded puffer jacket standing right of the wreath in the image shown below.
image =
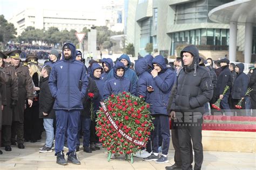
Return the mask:
{"type": "Polygon", "coordinates": [[[203,164],[202,123],[204,104],[211,100],[213,87],[210,73],[199,63],[196,46],[188,45],[180,53],[183,69],[177,80],[177,94],[171,107],[174,126],[178,126],[182,169],[190,169],[190,142],[194,149],[194,169],[203,164]],[[190,139],[191,138],[191,139],[190,139]]]}

